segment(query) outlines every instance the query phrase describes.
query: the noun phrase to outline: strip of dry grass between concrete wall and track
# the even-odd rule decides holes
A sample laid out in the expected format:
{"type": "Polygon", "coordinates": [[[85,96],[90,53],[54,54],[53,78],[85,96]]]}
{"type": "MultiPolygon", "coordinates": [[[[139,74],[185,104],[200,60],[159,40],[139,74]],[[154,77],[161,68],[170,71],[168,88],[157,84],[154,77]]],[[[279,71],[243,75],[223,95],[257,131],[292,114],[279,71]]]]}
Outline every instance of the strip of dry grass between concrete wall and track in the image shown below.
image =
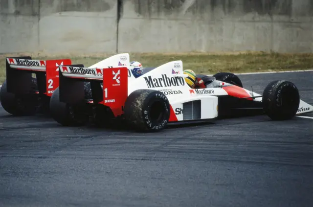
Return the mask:
{"type": "MultiPolygon", "coordinates": [[[[30,55],[35,60],[70,58],[73,64],[84,64],[86,67],[114,54],[1,54],[0,84],[5,80],[5,57],[30,55]]],[[[283,54],[265,52],[234,53],[130,53],[131,61],[139,61],[146,67],[157,67],[164,63],[181,60],[184,69],[193,69],[198,74],[217,72],[263,72],[313,68],[313,53],[283,54]]]]}

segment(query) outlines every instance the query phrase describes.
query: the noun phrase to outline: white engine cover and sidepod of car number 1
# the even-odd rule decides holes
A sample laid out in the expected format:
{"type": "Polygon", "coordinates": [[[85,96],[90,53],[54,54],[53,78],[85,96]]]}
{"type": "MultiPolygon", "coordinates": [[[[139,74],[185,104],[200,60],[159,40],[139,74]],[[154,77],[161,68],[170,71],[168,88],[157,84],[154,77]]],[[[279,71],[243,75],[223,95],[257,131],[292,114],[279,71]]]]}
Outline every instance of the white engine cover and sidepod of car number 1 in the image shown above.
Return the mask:
{"type": "MultiPolygon", "coordinates": [[[[217,117],[218,97],[191,93],[190,90],[192,89],[186,84],[184,77],[186,75],[183,74],[182,62],[169,62],[133,80],[128,86],[128,93],[130,94],[138,89],[151,89],[163,92],[168,97],[178,121],[217,117]],[[199,106],[192,106],[196,100],[201,101],[199,106]],[[190,102],[192,110],[190,109],[189,118],[184,118],[183,115],[186,113],[184,105],[188,102],[190,102]],[[201,107],[201,110],[198,109],[201,113],[200,117],[194,115],[193,112],[197,110],[195,107],[201,107]],[[179,113],[180,109],[183,113],[179,113]]],[[[215,88],[214,93],[227,95],[221,88],[215,88]]]]}

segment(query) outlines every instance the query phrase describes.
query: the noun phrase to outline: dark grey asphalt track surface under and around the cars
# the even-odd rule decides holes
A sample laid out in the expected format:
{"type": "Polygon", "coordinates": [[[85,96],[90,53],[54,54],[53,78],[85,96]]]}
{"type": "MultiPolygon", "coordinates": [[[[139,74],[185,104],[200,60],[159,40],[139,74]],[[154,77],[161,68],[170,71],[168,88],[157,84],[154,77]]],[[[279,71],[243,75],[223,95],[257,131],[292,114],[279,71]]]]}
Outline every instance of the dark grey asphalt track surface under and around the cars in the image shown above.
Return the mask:
{"type": "MultiPolygon", "coordinates": [[[[313,104],[313,72],[240,78],[259,93],[290,80],[313,104]]],[[[313,119],[260,115],[137,134],[0,108],[0,206],[312,207],[313,119]]]]}

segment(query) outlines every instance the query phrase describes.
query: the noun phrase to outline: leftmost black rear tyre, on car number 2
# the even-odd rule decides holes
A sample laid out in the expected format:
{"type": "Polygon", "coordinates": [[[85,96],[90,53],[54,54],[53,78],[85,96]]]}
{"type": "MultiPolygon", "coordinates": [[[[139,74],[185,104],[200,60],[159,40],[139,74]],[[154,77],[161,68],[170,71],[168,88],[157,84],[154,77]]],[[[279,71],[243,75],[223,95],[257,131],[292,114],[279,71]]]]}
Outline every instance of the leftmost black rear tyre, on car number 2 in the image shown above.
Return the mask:
{"type": "Polygon", "coordinates": [[[34,115],[39,107],[37,79],[31,80],[31,91],[26,94],[17,95],[7,92],[6,81],[0,89],[0,103],[5,111],[11,115],[34,115]]]}

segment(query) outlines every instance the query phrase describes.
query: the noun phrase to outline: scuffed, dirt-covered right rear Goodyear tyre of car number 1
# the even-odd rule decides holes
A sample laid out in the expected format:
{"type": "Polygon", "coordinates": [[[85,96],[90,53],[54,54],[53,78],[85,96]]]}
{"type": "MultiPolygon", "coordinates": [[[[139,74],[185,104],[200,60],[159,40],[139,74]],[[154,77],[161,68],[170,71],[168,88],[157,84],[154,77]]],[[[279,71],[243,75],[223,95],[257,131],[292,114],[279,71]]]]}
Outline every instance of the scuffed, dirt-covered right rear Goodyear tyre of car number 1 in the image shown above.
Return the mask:
{"type": "Polygon", "coordinates": [[[127,97],[124,117],[138,131],[158,132],[166,127],[170,110],[163,92],[141,89],[127,97]]]}

